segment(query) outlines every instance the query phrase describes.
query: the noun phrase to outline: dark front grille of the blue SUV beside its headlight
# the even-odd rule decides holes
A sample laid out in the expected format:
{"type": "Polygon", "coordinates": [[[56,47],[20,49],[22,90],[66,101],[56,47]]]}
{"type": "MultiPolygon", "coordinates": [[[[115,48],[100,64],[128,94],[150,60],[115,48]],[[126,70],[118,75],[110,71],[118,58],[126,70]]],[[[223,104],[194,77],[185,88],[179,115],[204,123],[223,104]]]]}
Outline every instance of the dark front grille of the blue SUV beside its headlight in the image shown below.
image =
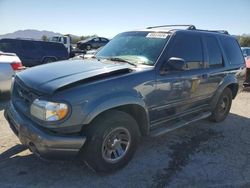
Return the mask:
{"type": "Polygon", "coordinates": [[[18,77],[15,78],[11,99],[17,111],[29,115],[30,105],[37,97],[38,95],[32,89],[28,88],[18,77]]]}

